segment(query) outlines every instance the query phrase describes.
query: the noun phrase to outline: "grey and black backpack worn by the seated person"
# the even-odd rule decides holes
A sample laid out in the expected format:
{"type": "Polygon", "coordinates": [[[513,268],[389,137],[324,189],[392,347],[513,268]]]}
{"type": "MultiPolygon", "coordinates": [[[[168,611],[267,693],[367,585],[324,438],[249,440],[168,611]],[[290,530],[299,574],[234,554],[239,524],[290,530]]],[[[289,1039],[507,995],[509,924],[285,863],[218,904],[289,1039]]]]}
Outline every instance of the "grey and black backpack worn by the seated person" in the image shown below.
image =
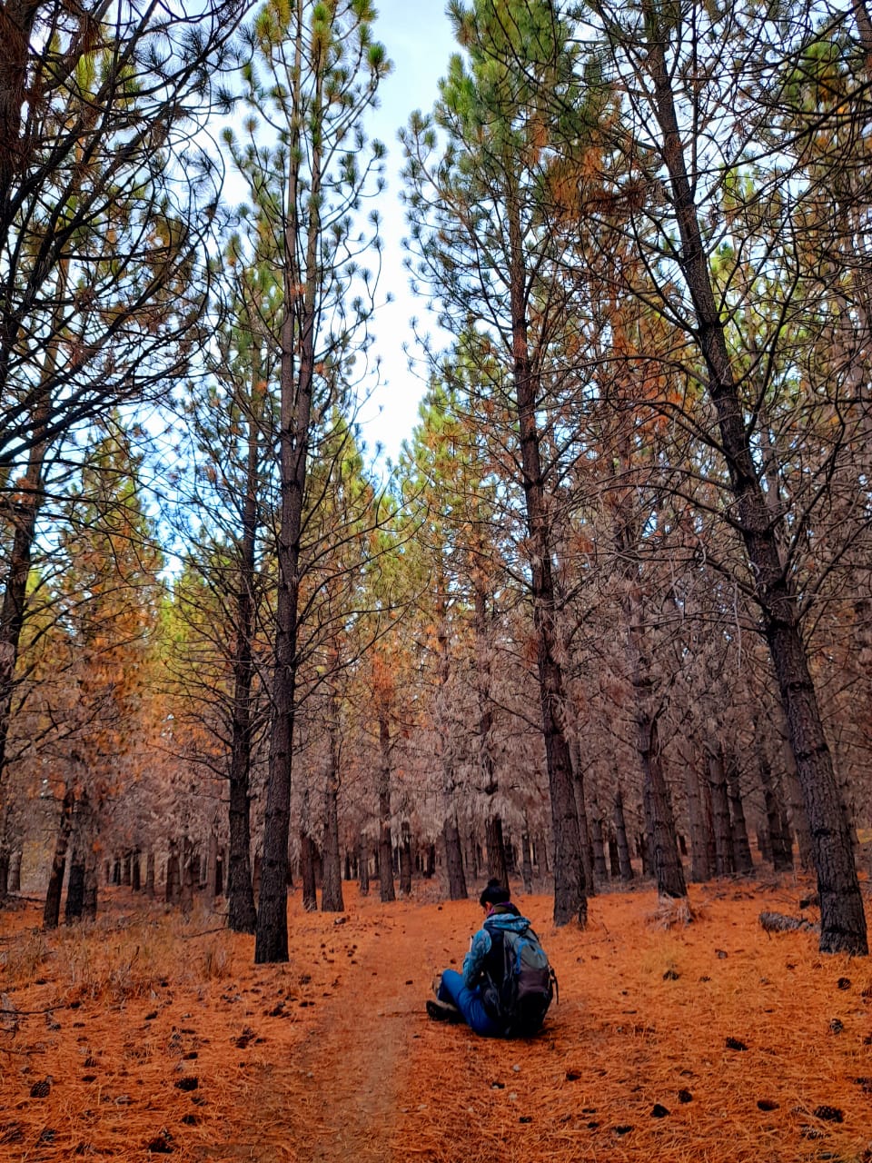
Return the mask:
{"type": "MultiPolygon", "coordinates": [[[[488,1015],[502,1026],[506,1037],[533,1037],[545,1020],[557,987],[557,975],[545,950],[531,928],[522,933],[500,929],[502,957],[496,964],[502,971],[487,975],[483,1001],[488,1015]]],[[[492,937],[495,934],[492,934],[492,937]]]]}

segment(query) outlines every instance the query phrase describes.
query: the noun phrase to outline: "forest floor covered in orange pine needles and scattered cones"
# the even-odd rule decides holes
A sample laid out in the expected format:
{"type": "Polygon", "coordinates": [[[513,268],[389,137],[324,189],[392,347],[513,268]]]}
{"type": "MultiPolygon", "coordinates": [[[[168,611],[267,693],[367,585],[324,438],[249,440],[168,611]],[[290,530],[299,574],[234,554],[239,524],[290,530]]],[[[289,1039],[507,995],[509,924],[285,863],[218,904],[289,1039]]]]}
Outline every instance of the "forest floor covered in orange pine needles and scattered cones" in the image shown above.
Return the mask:
{"type": "Polygon", "coordinates": [[[0,914],[0,1158],[872,1163],[872,959],[759,925],[814,920],[808,882],[694,885],[680,927],[650,889],[592,898],[584,932],[517,897],[560,986],[529,1042],[426,1015],[474,900],[343,891],[342,914],[292,896],[271,966],[126,890],[93,926],[0,914]]]}

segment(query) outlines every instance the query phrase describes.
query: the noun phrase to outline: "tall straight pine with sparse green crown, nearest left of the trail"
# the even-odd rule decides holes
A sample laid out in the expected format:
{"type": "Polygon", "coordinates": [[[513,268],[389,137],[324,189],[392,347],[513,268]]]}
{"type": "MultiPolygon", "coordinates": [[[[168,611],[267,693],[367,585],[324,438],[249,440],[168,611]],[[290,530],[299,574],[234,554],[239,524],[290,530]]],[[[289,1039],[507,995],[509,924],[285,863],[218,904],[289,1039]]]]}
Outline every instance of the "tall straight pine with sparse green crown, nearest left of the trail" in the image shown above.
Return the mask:
{"type": "MultiPolygon", "coordinates": [[[[283,278],[279,357],[278,595],[270,779],[255,959],[287,959],[287,847],[299,669],[300,555],[312,426],[337,402],[371,279],[352,258],[353,215],[379,165],[362,119],[388,69],[367,0],[265,5],[250,29],[246,99],[277,144],[228,141],[269,216],[264,257],[283,278]],[[363,163],[363,164],[362,164],[363,163]],[[357,286],[355,284],[357,283],[357,286]],[[358,293],[355,294],[353,292],[358,293]]],[[[257,117],[250,124],[252,134],[257,117]]],[[[377,226],[377,216],[372,219],[377,226]]]]}

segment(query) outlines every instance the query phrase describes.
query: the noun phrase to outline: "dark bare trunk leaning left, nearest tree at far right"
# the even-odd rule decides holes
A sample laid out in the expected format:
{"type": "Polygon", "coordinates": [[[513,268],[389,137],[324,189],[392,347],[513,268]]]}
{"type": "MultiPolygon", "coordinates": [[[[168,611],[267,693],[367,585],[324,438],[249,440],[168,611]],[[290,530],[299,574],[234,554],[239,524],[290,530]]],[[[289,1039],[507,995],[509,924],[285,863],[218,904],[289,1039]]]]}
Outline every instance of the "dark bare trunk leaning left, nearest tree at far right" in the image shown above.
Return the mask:
{"type": "Polygon", "coordinates": [[[676,114],[673,79],[666,64],[669,33],[652,0],[645,0],[646,69],[653,87],[652,112],[663,134],[663,159],[672,187],[680,250],[678,263],[696,316],[695,335],[706,363],[708,391],[717,413],[721,444],[736,500],[745,552],[756,579],[763,619],[787,721],[796,775],[812,830],[817,893],[821,901],[822,952],[869,952],[866,918],[853,862],[851,832],[821,721],[817,692],[798,623],[796,593],[778,545],[779,527],[766,509],[755,466],[751,429],[734,379],[727,342],[702,240],[694,187],[676,114]]]}

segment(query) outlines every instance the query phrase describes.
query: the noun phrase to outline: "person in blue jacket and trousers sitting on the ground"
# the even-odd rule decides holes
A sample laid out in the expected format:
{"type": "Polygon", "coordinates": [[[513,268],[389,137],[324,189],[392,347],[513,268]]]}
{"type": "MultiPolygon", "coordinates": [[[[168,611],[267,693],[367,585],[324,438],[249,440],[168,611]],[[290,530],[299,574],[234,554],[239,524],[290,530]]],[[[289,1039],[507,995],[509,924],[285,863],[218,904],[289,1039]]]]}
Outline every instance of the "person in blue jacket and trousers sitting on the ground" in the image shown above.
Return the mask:
{"type": "Polygon", "coordinates": [[[495,878],[479,897],[485,909],[485,922],[470,943],[464,957],[463,973],[446,969],[436,991],[436,999],[427,1003],[427,1013],[434,1021],[465,1021],[484,1037],[501,1037],[506,1030],[485,1005],[485,990],[491,982],[502,979],[502,936],[507,930],[526,933],[530,922],[522,916],[508,889],[495,878]]]}

